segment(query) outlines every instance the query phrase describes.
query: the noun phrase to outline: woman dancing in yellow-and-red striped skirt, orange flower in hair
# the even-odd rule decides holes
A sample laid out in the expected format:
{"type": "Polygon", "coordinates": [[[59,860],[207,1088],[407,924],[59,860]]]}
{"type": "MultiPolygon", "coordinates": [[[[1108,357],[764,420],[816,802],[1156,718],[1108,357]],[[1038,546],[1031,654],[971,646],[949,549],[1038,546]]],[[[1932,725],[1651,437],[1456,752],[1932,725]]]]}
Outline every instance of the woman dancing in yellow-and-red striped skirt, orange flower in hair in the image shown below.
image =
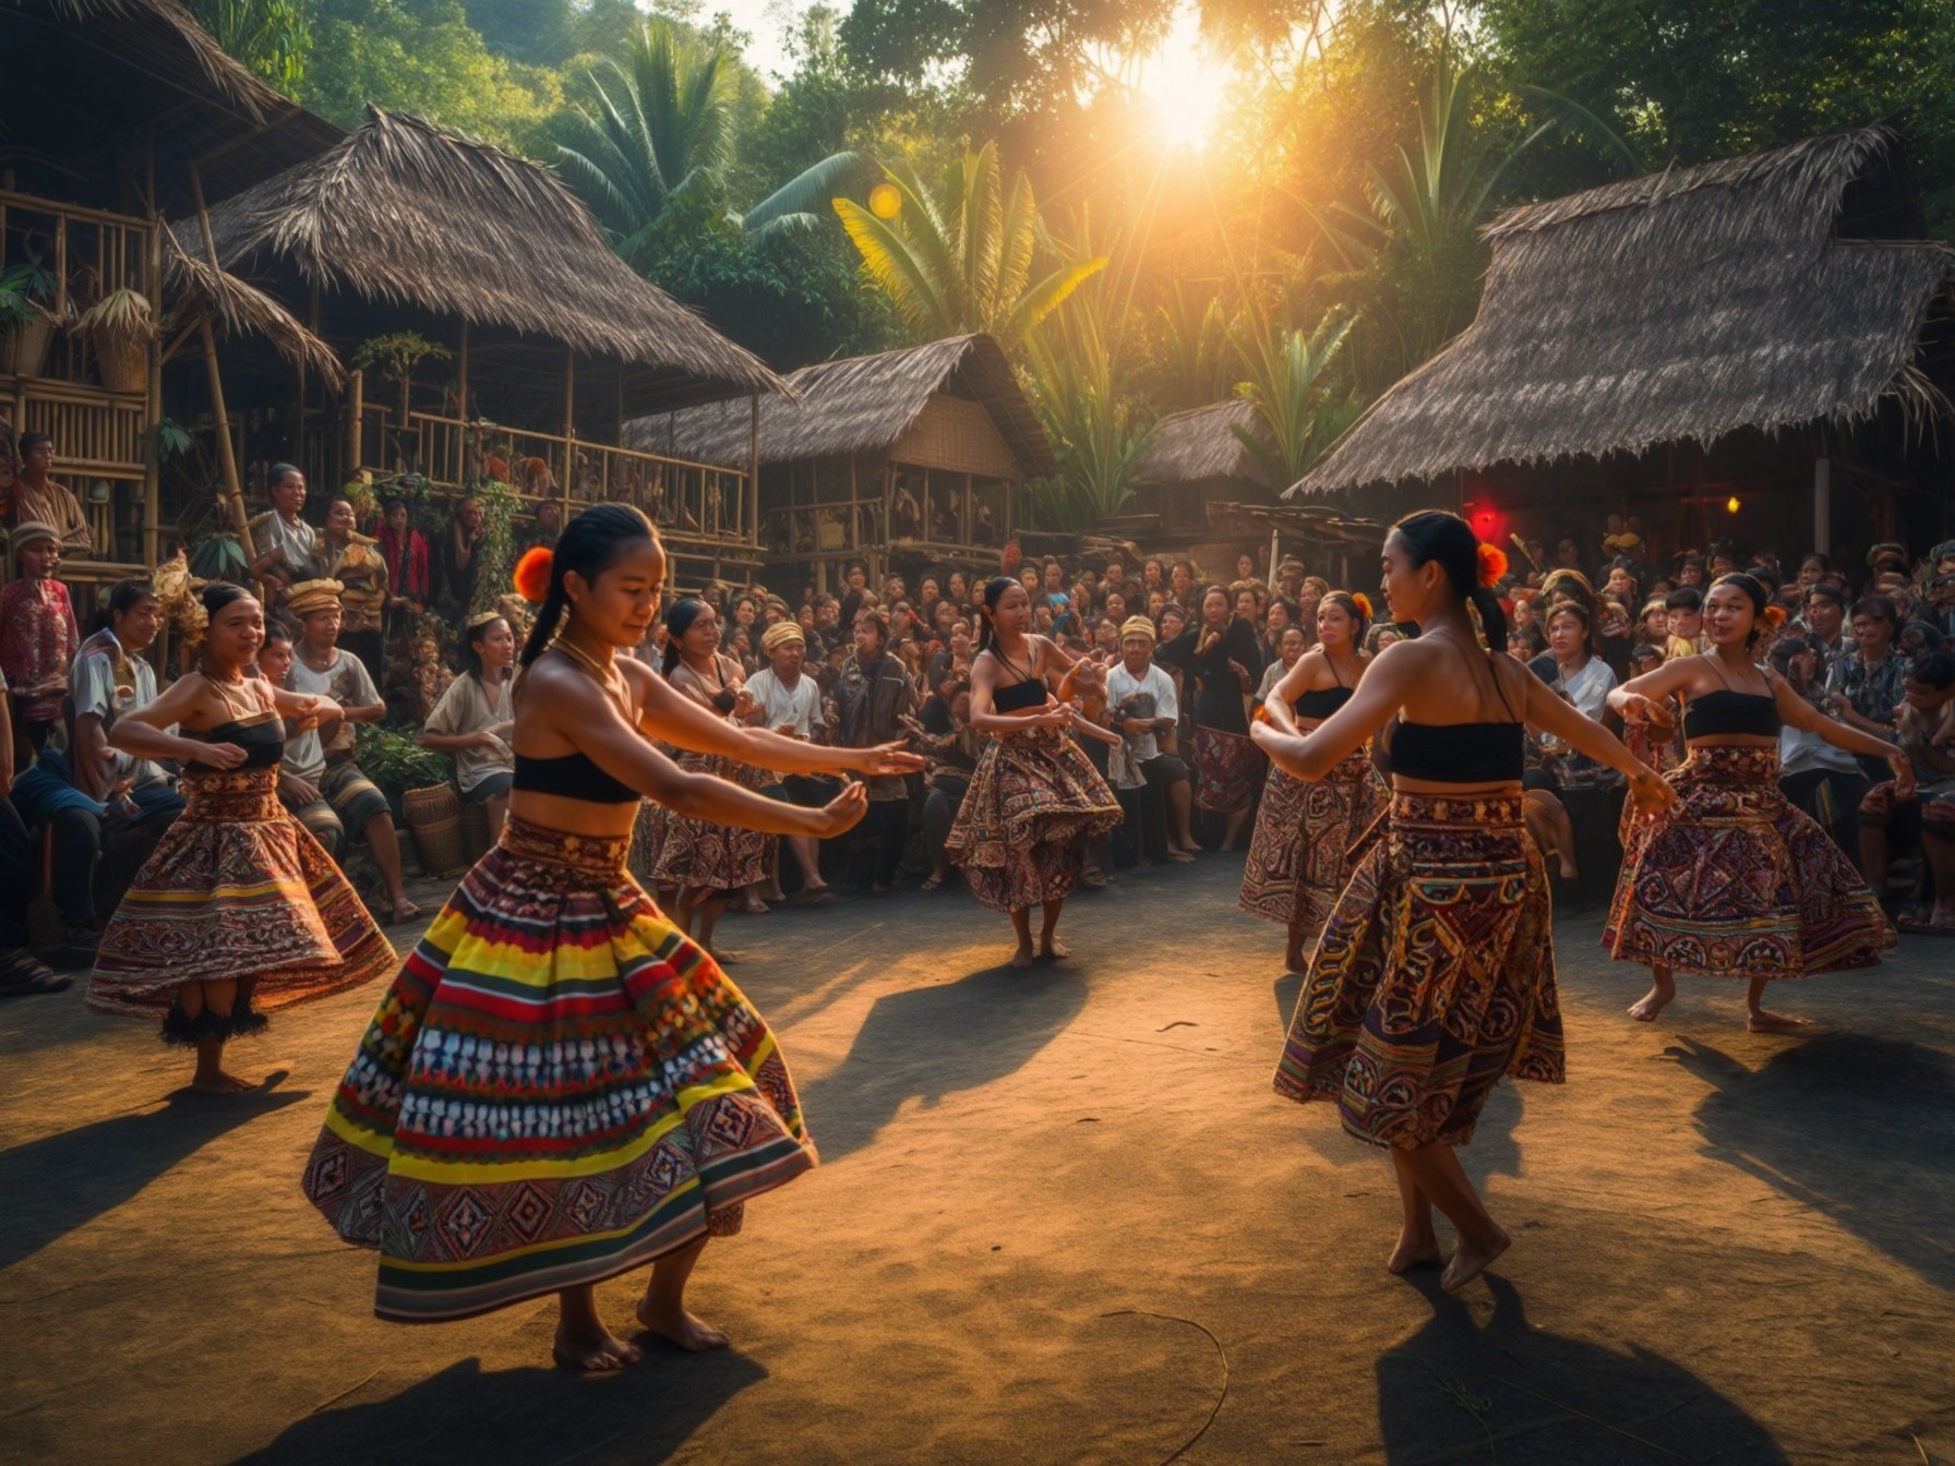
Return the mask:
{"type": "Polygon", "coordinates": [[[680,1349],[725,1335],[684,1308],[708,1235],[815,1163],[766,1022],[624,868],[639,796],[778,835],[839,835],[825,809],[676,768],[651,739],[796,774],[907,772],[895,749],[739,729],[614,657],[651,624],[665,553],[626,504],[530,549],[542,600],[516,686],[516,788],[495,850],[420,938],[360,1042],[305,1169],[340,1235],[377,1247],[375,1312],[454,1319],[555,1292],[555,1358],[639,1357],[594,1284],[657,1259],[639,1321],[680,1349]]]}

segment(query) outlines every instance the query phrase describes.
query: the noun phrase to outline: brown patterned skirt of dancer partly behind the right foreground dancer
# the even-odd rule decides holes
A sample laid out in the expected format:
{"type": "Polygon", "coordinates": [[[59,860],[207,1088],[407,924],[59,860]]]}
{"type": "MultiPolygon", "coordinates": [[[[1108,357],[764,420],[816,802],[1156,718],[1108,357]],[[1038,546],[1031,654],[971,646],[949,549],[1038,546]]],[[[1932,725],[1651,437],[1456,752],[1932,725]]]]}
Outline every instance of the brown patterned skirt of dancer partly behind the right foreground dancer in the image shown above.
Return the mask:
{"type": "Polygon", "coordinates": [[[1390,799],[1392,790],[1372,768],[1368,745],[1320,780],[1271,768],[1238,905],[1302,928],[1306,940],[1316,938],[1351,880],[1351,846],[1390,799]]]}

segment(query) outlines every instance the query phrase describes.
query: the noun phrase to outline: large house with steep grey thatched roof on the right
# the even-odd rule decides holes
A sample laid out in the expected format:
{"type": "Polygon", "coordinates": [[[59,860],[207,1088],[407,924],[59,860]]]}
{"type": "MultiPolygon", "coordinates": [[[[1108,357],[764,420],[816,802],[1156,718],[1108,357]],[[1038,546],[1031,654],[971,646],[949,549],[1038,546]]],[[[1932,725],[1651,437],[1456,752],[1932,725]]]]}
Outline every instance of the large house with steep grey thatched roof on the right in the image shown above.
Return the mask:
{"type": "MultiPolygon", "coordinates": [[[[1288,495],[1458,504],[1484,539],[1636,514],[1797,555],[1947,528],[1955,256],[1879,127],[1511,209],[1474,323],[1288,495]],[[1855,493],[1834,495],[1834,485],[1855,493]]],[[[1363,502],[1363,500],[1361,500],[1363,502]]]]}

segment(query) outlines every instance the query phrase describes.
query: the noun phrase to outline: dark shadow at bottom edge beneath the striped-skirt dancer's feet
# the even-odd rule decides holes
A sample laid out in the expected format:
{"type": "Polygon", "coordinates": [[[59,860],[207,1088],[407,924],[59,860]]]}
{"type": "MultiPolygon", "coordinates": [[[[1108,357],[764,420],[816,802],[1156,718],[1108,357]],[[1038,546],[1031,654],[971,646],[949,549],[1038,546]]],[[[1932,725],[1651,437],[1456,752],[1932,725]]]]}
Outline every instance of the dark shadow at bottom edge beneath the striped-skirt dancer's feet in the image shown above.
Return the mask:
{"type": "Polygon", "coordinates": [[[749,1384],[766,1378],[731,1349],[678,1355],[639,1341],[645,1358],[618,1374],[516,1368],[483,1374],[481,1360],[371,1405],[307,1415],[244,1462],[659,1462],[673,1456],[749,1384]]]}

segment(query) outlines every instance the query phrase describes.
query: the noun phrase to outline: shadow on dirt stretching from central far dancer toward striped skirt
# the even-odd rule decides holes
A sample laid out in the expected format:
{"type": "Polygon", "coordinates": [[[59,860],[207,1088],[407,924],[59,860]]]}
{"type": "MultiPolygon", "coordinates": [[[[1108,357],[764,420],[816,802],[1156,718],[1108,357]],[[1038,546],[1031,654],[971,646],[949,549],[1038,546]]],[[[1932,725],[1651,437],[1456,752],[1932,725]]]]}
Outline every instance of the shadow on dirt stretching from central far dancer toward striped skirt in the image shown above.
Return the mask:
{"type": "Polygon", "coordinates": [[[1019,1071],[1085,1001],[1085,977],[1060,964],[878,997],[841,1067],[804,1087],[821,1157],[874,1142],[907,1099],[934,1104],[1019,1071]]]}

